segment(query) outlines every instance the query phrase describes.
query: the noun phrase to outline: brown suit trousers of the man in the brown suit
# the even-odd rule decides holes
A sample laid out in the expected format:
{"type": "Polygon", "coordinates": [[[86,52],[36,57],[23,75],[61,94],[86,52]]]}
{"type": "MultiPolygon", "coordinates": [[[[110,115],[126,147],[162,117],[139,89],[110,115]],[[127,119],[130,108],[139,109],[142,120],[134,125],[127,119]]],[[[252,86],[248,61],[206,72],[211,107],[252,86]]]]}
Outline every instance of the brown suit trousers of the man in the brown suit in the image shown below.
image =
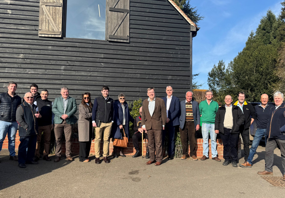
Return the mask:
{"type": "Polygon", "coordinates": [[[147,130],[150,161],[162,162],[162,130],[147,130]],[[155,149],[154,149],[155,145],[155,149]],[[155,153],[156,152],[156,155],[155,153]]]}

